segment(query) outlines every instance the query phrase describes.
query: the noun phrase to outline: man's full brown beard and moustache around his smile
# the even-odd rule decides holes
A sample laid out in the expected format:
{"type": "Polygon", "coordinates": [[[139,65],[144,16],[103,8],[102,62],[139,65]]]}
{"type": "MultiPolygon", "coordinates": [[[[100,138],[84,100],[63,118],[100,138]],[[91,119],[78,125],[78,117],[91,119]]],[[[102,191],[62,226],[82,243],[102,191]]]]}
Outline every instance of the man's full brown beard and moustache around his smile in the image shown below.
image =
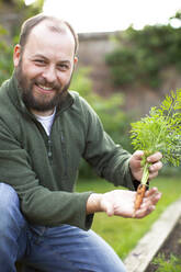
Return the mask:
{"type": "Polygon", "coordinates": [[[46,112],[49,110],[54,110],[56,106],[60,105],[65,101],[68,94],[68,89],[71,82],[72,73],[68,83],[64,87],[59,82],[49,83],[43,77],[29,80],[22,70],[22,59],[20,59],[19,66],[15,68],[15,77],[21,89],[22,100],[26,107],[29,110],[46,112]],[[52,98],[47,98],[47,95],[45,94],[41,95],[41,98],[36,98],[33,94],[33,87],[38,84],[50,87],[54,90],[55,95],[52,98]]]}

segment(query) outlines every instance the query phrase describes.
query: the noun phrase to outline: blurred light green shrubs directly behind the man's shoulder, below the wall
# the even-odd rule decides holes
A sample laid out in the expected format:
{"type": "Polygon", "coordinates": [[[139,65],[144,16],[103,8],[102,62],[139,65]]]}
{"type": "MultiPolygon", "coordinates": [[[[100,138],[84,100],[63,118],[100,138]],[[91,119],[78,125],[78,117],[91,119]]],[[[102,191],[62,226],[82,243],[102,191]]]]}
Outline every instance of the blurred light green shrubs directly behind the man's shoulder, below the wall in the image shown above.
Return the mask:
{"type": "MultiPolygon", "coordinates": [[[[114,141],[132,150],[128,137],[131,115],[125,114],[121,109],[124,103],[123,95],[118,93],[102,98],[93,92],[92,82],[89,78],[90,71],[90,68],[81,68],[75,72],[70,88],[78,91],[91,104],[101,118],[105,132],[114,141]]],[[[81,177],[92,177],[92,170],[86,162],[82,162],[80,167],[80,174],[81,177]]]]}

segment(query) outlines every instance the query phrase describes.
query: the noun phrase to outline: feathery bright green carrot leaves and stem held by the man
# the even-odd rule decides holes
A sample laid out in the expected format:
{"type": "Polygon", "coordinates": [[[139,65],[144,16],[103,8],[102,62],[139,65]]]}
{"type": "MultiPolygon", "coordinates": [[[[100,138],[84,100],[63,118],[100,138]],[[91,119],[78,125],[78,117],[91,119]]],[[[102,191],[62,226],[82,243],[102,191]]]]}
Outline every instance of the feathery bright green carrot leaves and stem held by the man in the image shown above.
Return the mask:
{"type": "Polygon", "coordinates": [[[151,107],[149,115],[132,123],[131,138],[134,149],[145,150],[143,183],[147,182],[146,158],[161,151],[163,162],[179,166],[181,160],[181,89],[171,92],[160,106],[151,107]]]}

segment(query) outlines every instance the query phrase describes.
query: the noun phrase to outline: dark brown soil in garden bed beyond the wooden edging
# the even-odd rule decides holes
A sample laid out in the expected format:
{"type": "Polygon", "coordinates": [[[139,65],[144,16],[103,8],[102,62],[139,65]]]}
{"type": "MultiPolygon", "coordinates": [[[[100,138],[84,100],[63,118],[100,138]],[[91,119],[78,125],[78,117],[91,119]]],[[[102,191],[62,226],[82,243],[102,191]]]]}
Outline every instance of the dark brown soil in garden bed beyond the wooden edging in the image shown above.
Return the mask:
{"type": "MultiPolygon", "coordinates": [[[[156,257],[158,257],[158,254],[165,254],[166,260],[170,259],[170,254],[181,258],[181,218],[156,257]]],[[[157,264],[150,263],[146,272],[156,272],[157,269],[157,264]]]]}

